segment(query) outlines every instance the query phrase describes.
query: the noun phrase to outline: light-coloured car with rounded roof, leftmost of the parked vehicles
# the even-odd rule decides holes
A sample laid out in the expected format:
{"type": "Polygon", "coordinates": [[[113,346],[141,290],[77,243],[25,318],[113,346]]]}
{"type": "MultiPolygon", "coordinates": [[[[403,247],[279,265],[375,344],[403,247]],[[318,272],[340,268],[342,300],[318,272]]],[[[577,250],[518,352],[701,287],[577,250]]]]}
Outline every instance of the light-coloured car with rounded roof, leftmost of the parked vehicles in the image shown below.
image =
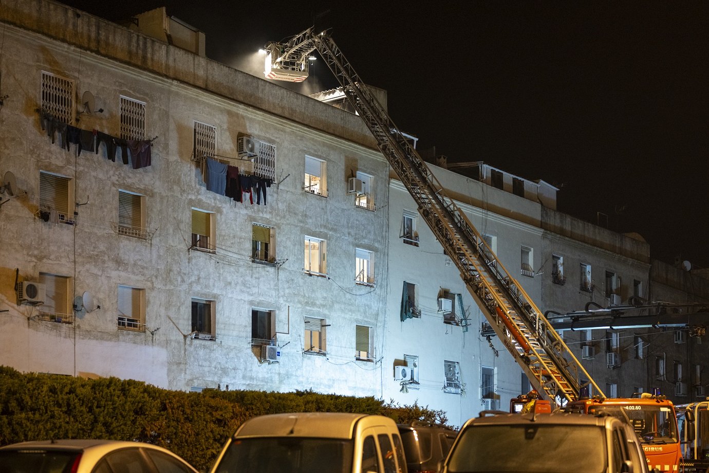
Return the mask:
{"type": "Polygon", "coordinates": [[[157,445],[119,440],[42,440],[0,447],[3,473],[197,473],[157,445]]]}

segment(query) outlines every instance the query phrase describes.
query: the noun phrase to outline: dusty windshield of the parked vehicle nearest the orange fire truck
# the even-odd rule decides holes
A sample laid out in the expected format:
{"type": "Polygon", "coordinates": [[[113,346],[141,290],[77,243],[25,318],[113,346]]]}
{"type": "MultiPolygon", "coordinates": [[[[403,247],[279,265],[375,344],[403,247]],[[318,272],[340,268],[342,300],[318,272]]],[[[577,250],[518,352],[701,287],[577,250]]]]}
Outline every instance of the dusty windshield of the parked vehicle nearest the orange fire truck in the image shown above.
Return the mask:
{"type": "Polygon", "coordinates": [[[604,447],[605,431],[596,425],[472,425],[460,434],[448,471],[601,473],[604,447]]]}

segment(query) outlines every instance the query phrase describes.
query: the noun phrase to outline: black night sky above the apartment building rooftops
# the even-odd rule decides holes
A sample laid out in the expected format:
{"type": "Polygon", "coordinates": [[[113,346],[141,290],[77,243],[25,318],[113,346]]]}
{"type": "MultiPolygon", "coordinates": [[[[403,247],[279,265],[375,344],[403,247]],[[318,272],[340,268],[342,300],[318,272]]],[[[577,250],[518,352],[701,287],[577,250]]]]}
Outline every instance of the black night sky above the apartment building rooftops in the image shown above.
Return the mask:
{"type": "MultiPolygon", "coordinates": [[[[419,150],[542,179],[560,211],[709,267],[709,1],[63,3],[112,21],[167,6],[259,77],[267,41],[332,28],[419,150]]],[[[279,84],[337,86],[322,61],[279,84]]]]}

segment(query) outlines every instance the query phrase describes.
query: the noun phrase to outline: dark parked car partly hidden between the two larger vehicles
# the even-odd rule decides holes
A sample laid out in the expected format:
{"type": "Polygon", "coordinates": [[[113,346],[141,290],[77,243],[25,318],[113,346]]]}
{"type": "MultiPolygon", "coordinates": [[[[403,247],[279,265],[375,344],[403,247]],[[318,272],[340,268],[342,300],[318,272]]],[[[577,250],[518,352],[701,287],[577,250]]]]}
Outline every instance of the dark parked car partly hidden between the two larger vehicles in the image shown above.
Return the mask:
{"type": "Polygon", "coordinates": [[[435,473],[453,445],[457,430],[442,425],[397,424],[408,473],[435,473]]]}

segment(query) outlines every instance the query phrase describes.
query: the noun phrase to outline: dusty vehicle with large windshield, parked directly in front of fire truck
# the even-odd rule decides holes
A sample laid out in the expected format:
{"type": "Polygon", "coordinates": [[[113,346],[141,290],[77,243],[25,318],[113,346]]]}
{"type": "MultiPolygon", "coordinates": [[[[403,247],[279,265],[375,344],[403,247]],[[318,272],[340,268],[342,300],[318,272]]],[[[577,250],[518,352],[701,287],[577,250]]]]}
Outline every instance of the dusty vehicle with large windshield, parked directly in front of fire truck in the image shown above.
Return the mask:
{"type": "Polygon", "coordinates": [[[632,427],[613,416],[501,414],[460,430],[444,473],[648,473],[632,427]]]}

